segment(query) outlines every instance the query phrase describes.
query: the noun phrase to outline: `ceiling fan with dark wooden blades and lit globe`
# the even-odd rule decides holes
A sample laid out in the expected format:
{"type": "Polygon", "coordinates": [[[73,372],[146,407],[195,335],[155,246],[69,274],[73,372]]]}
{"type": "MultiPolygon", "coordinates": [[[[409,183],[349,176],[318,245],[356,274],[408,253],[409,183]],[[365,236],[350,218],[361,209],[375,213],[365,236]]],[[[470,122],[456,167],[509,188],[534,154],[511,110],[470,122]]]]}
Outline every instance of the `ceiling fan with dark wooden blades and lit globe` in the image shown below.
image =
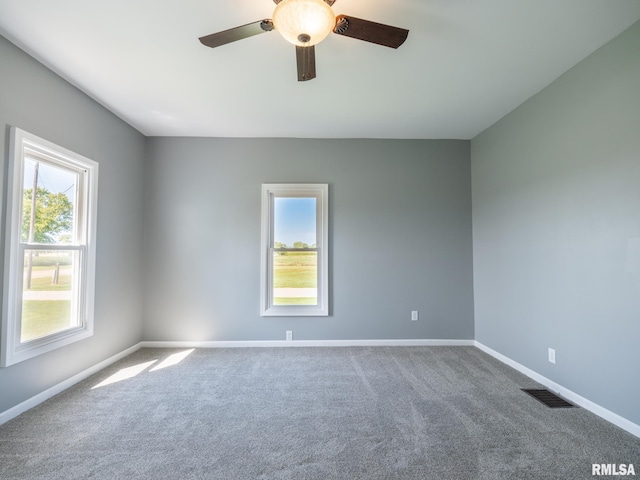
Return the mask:
{"type": "Polygon", "coordinates": [[[296,46],[298,81],[304,82],[316,77],[314,46],[331,32],[391,48],[398,48],[407,39],[409,30],[404,28],[347,15],[336,16],[331,9],[335,1],[273,0],[276,4],[273,19],[212,33],[199,40],[203,45],[215,48],[275,29],[285,40],[296,46]]]}

